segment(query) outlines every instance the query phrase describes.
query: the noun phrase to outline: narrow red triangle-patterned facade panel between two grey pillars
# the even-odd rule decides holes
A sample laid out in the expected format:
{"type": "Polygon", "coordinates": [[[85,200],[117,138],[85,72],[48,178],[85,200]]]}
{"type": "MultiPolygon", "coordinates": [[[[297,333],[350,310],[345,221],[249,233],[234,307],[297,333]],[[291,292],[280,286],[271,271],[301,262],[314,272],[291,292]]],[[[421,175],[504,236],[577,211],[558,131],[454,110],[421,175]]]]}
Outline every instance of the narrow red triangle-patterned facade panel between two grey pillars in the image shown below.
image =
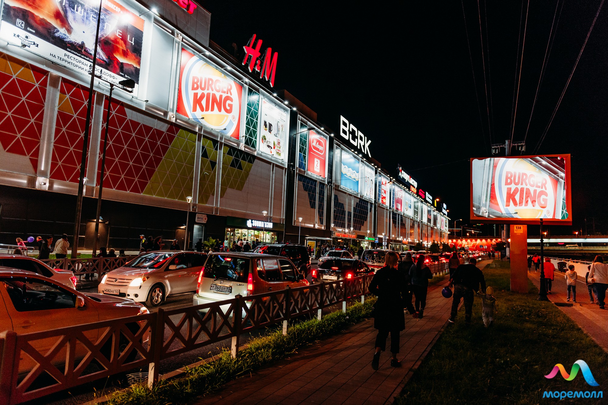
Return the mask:
{"type": "Polygon", "coordinates": [[[50,178],[78,182],[89,90],[61,79],[50,178]]]}

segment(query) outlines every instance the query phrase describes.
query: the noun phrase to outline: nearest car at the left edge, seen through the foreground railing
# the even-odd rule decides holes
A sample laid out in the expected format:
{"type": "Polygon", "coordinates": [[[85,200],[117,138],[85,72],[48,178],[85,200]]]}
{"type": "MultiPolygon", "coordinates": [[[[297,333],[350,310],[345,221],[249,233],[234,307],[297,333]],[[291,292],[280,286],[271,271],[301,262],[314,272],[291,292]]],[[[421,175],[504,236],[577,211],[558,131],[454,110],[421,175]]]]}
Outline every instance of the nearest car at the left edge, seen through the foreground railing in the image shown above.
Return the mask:
{"type": "MultiPolygon", "coordinates": [[[[52,278],[47,278],[29,271],[0,267],[0,332],[13,330],[17,334],[44,332],[60,327],[82,325],[97,321],[124,318],[126,316],[148,313],[142,304],[134,303],[117,296],[81,293],[66,287],[52,278]]],[[[134,323],[128,326],[131,332],[139,330],[134,323]]],[[[95,342],[105,329],[86,330],[86,338],[95,342]]],[[[148,340],[148,335],[142,343],[148,340]]],[[[33,348],[41,353],[48,352],[57,338],[31,341],[33,348]]],[[[111,339],[100,350],[109,356],[111,339]]],[[[128,345],[126,338],[119,340],[119,351],[128,345]]],[[[67,347],[67,345],[66,345],[67,347]]],[[[54,356],[55,366],[66,359],[66,347],[54,356]]],[[[84,358],[89,350],[83,344],[75,344],[77,360],[84,358]]],[[[127,361],[134,360],[134,350],[127,356],[127,361]]],[[[35,367],[36,362],[30,356],[22,355],[19,362],[19,373],[35,367]]]]}

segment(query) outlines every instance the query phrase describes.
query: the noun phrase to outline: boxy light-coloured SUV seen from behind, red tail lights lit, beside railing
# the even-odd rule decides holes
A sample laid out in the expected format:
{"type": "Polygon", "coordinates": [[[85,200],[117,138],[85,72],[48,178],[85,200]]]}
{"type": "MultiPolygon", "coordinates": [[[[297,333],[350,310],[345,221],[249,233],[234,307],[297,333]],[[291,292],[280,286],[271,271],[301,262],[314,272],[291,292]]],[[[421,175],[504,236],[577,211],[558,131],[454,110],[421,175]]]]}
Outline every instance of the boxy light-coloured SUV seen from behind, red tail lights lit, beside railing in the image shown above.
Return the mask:
{"type": "Polygon", "coordinates": [[[260,253],[212,253],[198,277],[192,304],[230,300],[237,294],[249,296],[270,291],[308,286],[291,260],[260,253]]]}

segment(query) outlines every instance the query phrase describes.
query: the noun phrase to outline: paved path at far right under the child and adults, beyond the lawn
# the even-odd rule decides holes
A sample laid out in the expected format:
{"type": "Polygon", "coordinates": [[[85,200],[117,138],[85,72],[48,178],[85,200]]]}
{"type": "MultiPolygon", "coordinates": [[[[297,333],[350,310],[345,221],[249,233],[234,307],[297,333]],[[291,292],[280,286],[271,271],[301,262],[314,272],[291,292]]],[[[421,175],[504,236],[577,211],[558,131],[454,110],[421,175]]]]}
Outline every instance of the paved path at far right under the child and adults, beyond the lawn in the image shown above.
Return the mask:
{"type": "MultiPolygon", "coordinates": [[[[562,272],[555,271],[551,293],[547,295],[549,300],[556,304],[565,304],[567,298],[567,284],[562,272]]],[[[540,283],[541,270],[537,273],[528,273],[528,278],[536,287],[540,283]]],[[[571,297],[572,298],[572,297],[571,297]]],[[[608,310],[599,309],[597,304],[591,304],[589,301],[589,293],[585,284],[585,278],[578,277],[576,283],[576,303],[573,306],[558,306],[570,319],[575,321],[578,326],[584,330],[587,335],[591,336],[599,346],[608,352],[608,310]]],[[[572,300],[570,301],[572,303],[572,300]]]]}

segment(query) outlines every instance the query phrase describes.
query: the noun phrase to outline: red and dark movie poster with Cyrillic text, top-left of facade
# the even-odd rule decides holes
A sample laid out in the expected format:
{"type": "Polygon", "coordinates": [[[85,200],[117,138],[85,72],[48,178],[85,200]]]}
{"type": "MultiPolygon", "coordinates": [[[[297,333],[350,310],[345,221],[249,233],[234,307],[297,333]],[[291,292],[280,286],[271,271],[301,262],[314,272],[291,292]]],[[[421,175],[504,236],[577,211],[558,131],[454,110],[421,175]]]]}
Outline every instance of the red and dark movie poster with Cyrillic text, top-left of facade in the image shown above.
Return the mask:
{"type": "MultiPolygon", "coordinates": [[[[7,0],[0,38],[55,64],[91,72],[99,3],[7,0]]],[[[142,18],[114,0],[103,0],[95,74],[117,84],[133,79],[137,94],[142,62],[142,18]]]]}

